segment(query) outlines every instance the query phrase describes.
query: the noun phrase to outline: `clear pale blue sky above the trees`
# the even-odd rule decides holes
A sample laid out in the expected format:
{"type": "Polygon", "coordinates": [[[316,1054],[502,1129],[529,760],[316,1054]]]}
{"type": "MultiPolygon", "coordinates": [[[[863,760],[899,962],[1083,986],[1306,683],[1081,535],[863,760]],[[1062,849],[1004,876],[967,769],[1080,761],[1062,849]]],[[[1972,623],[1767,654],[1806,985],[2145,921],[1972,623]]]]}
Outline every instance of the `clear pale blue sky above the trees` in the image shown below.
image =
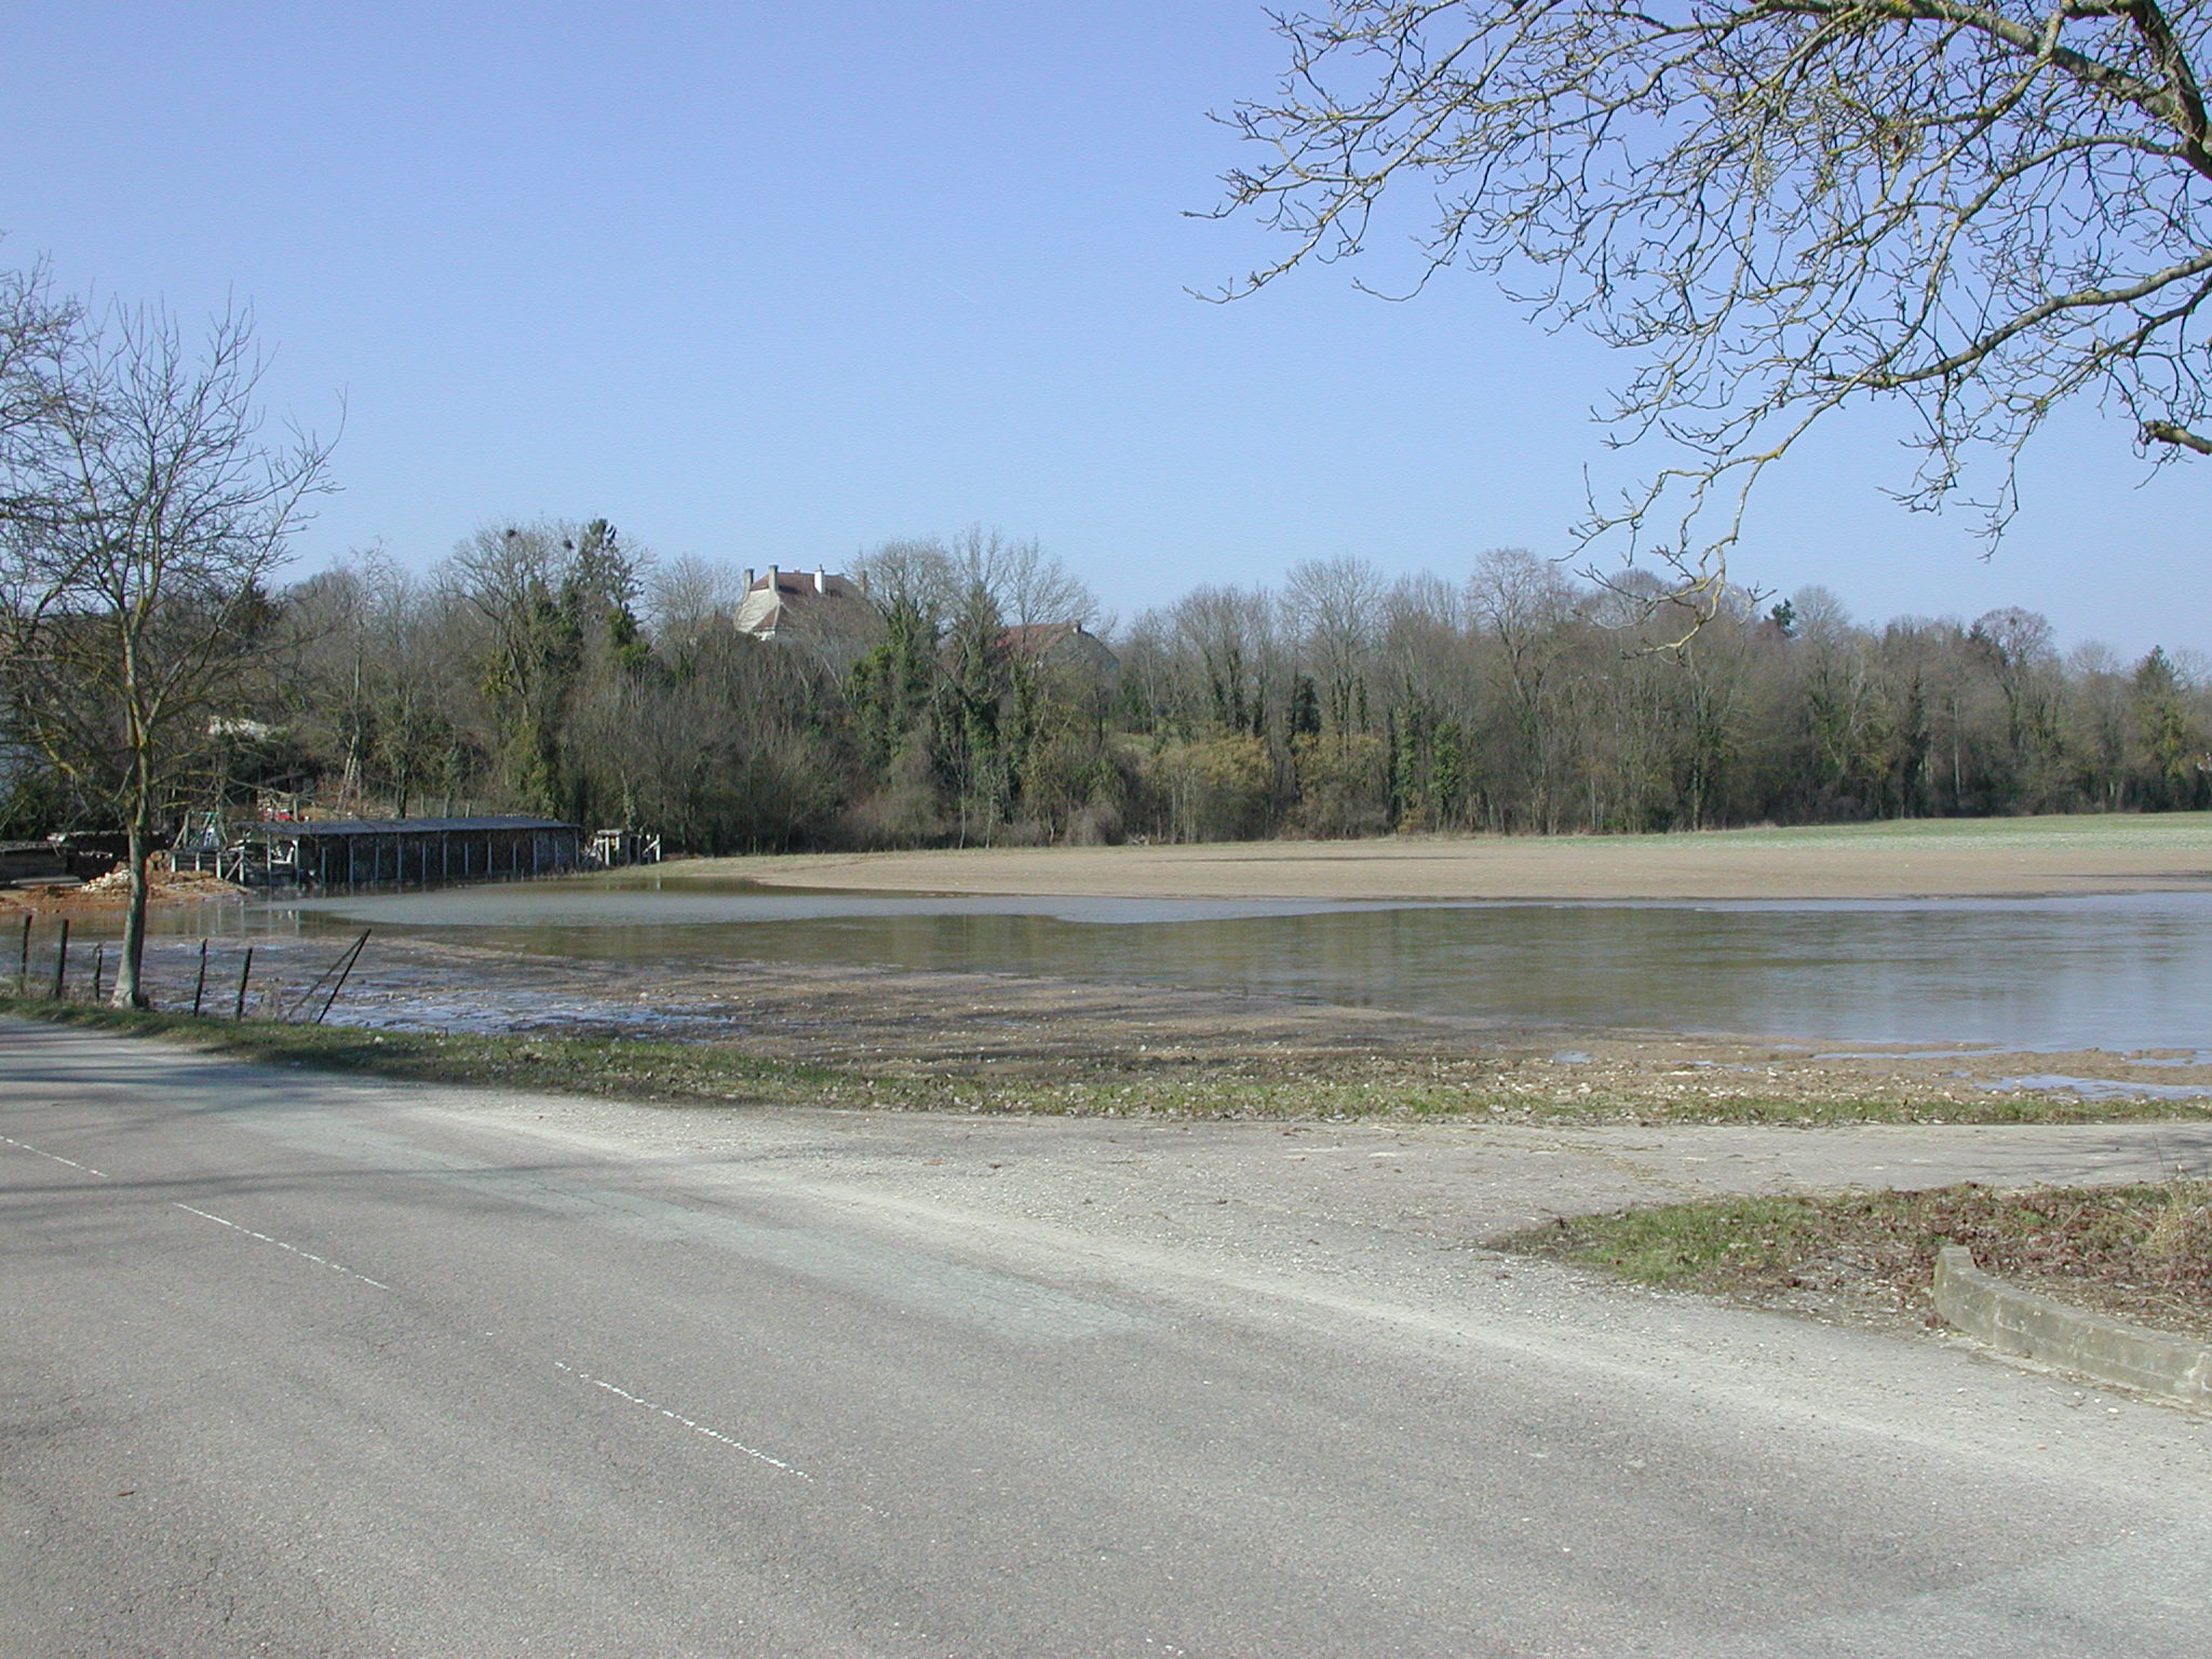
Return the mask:
{"type": "MultiPolygon", "coordinates": [[[[301,568],[429,564],[487,520],[845,564],[1037,535],[1124,617],[1301,557],[1464,575],[1568,551],[1617,372],[1475,276],[1389,305],[1265,257],[1206,111],[1270,86],[1248,0],[9,7],[0,230],[71,288],[250,299],[270,400],[343,493],[301,568]]],[[[2212,462],[2146,482],[2070,411],[1995,560],[1880,495],[1902,427],[1763,489],[1736,575],[1860,617],[2024,604],[2212,646],[2212,462]]]]}

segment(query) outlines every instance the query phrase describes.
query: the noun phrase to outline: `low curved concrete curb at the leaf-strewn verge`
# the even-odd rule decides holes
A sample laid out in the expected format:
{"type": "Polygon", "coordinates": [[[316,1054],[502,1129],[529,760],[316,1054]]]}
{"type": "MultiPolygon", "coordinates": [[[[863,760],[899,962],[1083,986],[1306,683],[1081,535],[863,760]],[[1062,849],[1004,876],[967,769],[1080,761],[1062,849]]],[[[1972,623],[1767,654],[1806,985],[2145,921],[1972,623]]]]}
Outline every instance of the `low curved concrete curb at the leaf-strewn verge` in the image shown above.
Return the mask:
{"type": "Polygon", "coordinates": [[[2004,1354],[2212,1411],[2212,1347],[2008,1285],[1975,1267],[1966,1245],[1936,1254],[1936,1312],[2004,1354]]]}

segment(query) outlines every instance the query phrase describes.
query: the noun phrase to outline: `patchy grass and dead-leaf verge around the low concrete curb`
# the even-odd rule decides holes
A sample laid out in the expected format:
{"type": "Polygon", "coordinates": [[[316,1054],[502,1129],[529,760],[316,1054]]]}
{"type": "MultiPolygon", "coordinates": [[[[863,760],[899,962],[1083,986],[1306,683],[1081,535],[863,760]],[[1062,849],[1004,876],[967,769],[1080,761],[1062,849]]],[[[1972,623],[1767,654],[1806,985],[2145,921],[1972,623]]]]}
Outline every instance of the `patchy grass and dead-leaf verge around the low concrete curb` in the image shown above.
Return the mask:
{"type": "Polygon", "coordinates": [[[1703,1199],[1491,1239],[1639,1285],[1871,1323],[1933,1316],[1947,1243],[2077,1307],[2212,1340],[2212,1181],[1703,1199]]]}

